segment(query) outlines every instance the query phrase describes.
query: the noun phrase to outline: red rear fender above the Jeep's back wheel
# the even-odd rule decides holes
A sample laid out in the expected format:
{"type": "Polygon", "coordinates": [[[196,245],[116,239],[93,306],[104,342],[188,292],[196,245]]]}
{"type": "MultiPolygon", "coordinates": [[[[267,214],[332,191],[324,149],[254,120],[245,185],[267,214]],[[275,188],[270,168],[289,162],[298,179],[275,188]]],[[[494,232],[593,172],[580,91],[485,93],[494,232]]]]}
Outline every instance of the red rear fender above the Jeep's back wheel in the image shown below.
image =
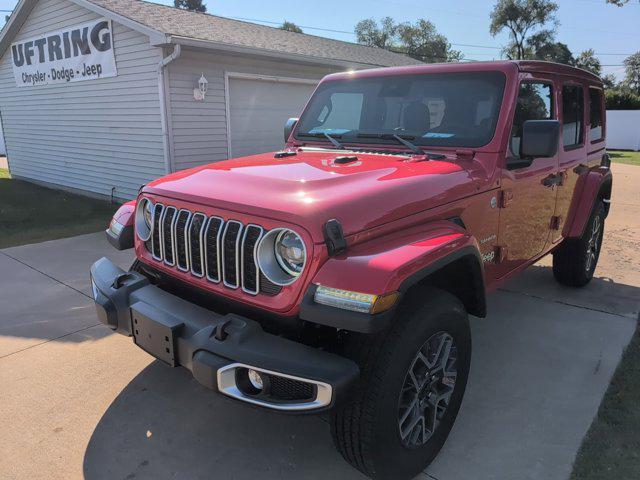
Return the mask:
{"type": "MultiPolygon", "coordinates": [[[[598,199],[609,200],[613,175],[611,170],[598,168],[591,170],[578,180],[573,202],[569,210],[568,222],[565,223],[562,235],[565,238],[578,238],[582,236],[589,222],[593,205],[598,199]]],[[[606,205],[606,214],[609,213],[609,204],[606,205]]]]}

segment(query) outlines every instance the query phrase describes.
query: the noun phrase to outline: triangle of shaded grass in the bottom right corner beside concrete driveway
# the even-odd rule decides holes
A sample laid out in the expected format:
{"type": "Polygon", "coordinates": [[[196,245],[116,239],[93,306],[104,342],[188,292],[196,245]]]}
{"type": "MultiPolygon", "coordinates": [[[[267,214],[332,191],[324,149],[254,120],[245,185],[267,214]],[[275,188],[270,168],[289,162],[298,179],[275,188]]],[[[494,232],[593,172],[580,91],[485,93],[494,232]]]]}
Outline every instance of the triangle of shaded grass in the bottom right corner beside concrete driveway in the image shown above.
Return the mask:
{"type": "Polygon", "coordinates": [[[640,478],[640,326],[582,441],[572,480],[640,478]]]}

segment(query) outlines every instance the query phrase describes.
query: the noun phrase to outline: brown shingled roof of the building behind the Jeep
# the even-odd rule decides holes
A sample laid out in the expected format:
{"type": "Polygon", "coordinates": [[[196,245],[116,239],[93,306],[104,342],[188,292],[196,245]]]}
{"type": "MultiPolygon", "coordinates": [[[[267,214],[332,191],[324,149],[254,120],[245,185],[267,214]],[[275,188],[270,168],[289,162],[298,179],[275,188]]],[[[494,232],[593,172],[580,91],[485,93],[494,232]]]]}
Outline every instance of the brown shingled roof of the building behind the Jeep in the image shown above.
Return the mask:
{"type": "Polygon", "coordinates": [[[88,0],[171,37],[370,66],[420,64],[406,55],[140,0],[88,0]]]}

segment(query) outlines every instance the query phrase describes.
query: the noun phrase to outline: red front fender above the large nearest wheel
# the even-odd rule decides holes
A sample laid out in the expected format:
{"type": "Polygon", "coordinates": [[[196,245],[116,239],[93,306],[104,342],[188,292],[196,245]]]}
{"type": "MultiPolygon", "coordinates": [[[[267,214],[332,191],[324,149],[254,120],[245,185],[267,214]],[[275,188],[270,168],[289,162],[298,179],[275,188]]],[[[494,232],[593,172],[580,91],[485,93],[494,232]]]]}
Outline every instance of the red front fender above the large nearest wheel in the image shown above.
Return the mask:
{"type": "Polygon", "coordinates": [[[313,283],[376,295],[404,293],[455,262],[468,264],[464,275],[472,278],[473,291],[465,289],[461,300],[469,313],[484,316],[484,272],[477,241],[464,228],[446,220],[350,247],[327,260],[313,283]]]}

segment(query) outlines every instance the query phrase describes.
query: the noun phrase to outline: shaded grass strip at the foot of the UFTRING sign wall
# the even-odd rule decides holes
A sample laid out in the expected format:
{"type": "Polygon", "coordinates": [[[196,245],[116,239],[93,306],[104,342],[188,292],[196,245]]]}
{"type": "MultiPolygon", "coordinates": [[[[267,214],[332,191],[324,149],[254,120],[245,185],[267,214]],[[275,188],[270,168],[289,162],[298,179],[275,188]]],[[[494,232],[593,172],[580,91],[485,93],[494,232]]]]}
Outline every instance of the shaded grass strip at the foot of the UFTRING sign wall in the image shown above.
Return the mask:
{"type": "Polygon", "coordinates": [[[117,208],[12,179],[0,169],[0,248],[103,230],[117,208]]]}

